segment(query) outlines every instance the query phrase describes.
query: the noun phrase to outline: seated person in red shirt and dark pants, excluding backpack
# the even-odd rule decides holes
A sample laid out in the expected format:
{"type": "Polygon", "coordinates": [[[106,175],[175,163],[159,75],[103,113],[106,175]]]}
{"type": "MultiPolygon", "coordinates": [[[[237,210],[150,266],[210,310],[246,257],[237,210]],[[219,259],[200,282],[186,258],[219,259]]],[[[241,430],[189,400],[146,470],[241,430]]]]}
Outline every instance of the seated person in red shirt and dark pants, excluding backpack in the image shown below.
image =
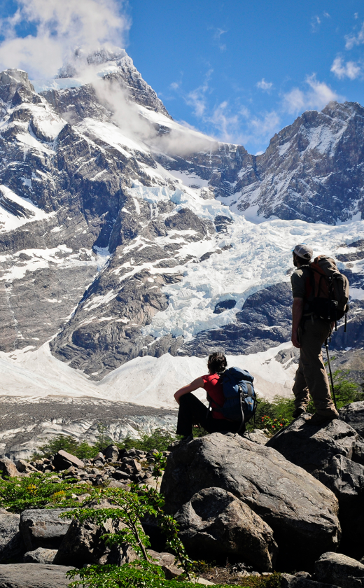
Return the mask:
{"type": "Polygon", "coordinates": [[[176,434],[183,435],[183,441],[193,439],[193,424],[199,424],[208,433],[237,433],[239,430],[240,423],[225,419],[221,412],[216,410],[224,403],[223,384],[221,384],[220,376],[225,372],[227,365],[223,353],[211,353],[207,362],[209,374],[196,378],[191,384],[183,386],[174,394],[174,398],[179,404],[176,434]],[[191,393],[197,388],[204,388],[207,391],[211,410],[191,393]]]}

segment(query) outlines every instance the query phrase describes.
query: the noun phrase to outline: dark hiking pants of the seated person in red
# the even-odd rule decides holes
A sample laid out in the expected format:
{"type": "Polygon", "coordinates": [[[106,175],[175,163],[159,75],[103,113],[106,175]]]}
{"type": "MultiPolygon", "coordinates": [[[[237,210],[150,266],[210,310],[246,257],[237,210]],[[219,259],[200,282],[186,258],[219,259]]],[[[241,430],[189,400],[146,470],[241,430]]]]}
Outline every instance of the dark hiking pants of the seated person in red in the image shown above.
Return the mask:
{"type": "Polygon", "coordinates": [[[192,435],[193,425],[197,424],[207,430],[207,433],[237,433],[239,429],[239,423],[231,423],[225,419],[213,419],[204,403],[192,393],[183,394],[179,399],[176,434],[192,435]]]}

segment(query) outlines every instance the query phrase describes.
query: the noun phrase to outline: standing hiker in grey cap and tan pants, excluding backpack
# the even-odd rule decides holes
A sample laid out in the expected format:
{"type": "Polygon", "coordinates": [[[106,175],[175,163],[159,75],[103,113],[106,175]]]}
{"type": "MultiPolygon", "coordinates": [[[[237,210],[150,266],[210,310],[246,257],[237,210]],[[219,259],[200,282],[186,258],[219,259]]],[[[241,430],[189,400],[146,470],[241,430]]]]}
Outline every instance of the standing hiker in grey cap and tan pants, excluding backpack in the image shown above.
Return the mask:
{"type": "Polygon", "coordinates": [[[293,250],[293,264],[297,268],[290,277],[293,292],[292,343],[300,349],[300,363],[295,374],[293,394],[297,418],[306,412],[309,395],[316,408],[316,414],[309,422],[321,424],[338,419],[339,414],[331,400],[328,374],[323,364],[321,347],[332,331],[330,321],[318,318],[309,310],[307,284],[311,269],[309,262],[313,250],[306,244],[296,245],[293,250]]]}

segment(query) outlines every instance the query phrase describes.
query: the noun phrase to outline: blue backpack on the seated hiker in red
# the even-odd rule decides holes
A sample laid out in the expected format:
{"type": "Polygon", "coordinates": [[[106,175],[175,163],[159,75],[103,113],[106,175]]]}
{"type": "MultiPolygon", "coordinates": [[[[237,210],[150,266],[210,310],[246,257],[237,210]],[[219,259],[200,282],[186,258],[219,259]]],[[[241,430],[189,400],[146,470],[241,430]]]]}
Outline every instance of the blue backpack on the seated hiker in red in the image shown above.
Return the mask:
{"type": "MultiPolygon", "coordinates": [[[[245,424],[254,416],[257,407],[254,378],[239,367],[229,367],[220,378],[225,402],[223,407],[214,407],[214,410],[221,412],[225,419],[240,423],[239,433],[241,429],[245,430],[245,424]]],[[[211,398],[209,401],[211,402],[211,398]]]]}

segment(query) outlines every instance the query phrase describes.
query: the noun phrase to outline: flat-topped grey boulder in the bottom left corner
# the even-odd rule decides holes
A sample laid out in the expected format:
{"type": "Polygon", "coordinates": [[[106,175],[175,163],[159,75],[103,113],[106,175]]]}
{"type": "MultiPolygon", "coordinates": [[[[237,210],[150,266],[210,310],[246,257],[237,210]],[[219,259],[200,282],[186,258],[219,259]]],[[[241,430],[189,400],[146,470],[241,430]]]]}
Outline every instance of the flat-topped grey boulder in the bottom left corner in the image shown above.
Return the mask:
{"type": "Polygon", "coordinates": [[[70,569],[49,563],[0,565],[0,588],[67,588],[70,580],[66,572],[70,569]]]}

